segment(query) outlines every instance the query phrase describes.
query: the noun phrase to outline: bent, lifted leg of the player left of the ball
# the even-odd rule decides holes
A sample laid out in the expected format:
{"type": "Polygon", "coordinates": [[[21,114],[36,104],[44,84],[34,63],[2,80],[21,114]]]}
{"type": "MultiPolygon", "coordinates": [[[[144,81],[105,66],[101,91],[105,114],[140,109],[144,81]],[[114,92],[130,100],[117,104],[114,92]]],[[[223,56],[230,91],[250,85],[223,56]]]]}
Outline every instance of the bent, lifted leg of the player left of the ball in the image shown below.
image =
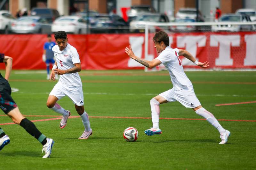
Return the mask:
{"type": "Polygon", "coordinates": [[[65,96],[63,91],[65,91],[65,89],[63,89],[63,87],[61,87],[61,83],[58,82],[50,92],[46,103],[48,108],[62,115],[62,119],[60,121],[61,129],[65,128],[67,125],[68,117],[71,115],[69,110],[65,110],[57,103],[59,99],[65,96]]]}

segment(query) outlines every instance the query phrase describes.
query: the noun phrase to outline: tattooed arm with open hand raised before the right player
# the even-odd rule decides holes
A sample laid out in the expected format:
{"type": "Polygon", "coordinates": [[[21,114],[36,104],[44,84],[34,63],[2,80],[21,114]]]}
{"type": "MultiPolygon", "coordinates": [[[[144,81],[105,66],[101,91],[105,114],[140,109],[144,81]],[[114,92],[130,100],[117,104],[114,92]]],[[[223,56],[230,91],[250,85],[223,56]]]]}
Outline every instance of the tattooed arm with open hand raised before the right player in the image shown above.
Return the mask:
{"type": "Polygon", "coordinates": [[[129,46],[129,48],[126,47],[125,52],[126,52],[127,55],[129,55],[130,58],[132,58],[133,60],[137,61],[138,63],[141,63],[142,65],[144,65],[144,66],[146,66],[150,69],[152,69],[152,68],[161,64],[160,60],[157,60],[157,59],[154,59],[152,61],[148,61],[148,60],[143,60],[140,57],[135,56],[133,51],[132,51],[131,46],[129,46]]]}

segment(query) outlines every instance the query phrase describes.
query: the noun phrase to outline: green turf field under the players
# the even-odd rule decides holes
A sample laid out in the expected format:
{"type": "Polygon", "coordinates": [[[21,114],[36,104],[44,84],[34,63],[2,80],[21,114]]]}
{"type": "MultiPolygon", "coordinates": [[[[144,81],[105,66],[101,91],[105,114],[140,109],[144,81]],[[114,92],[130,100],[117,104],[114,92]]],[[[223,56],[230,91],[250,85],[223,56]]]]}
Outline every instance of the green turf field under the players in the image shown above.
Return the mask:
{"type": "MultiPolygon", "coordinates": [[[[4,75],[4,70],[1,70],[4,75]]],[[[215,106],[256,100],[255,72],[186,72],[202,106],[217,119],[256,120],[256,103],[215,106]]],[[[172,88],[167,71],[143,70],[82,71],[84,107],[89,116],[151,117],[149,100],[172,88]]],[[[46,107],[56,82],[46,80],[42,71],[13,70],[10,85],[19,91],[12,97],[29,120],[59,116],[46,107]],[[42,117],[33,117],[42,115],[42,117]]],[[[78,116],[72,101],[59,104],[78,116]]],[[[178,102],[160,106],[162,118],[201,119],[178,102]]],[[[0,111],[0,115],[4,115],[0,111]]],[[[0,116],[1,123],[12,122],[0,116]]],[[[162,134],[148,137],[144,130],[151,119],[90,118],[93,135],[77,139],[83,132],[81,118],[70,118],[64,129],[60,120],[34,122],[55,144],[49,159],[42,159],[42,145],[22,127],[0,125],[11,143],[0,151],[0,169],[255,169],[256,122],[219,121],[231,132],[228,143],[220,145],[219,132],[205,120],[165,120],[159,122],[162,134]],[[123,131],[135,127],[136,142],[125,142],[123,131]]]]}

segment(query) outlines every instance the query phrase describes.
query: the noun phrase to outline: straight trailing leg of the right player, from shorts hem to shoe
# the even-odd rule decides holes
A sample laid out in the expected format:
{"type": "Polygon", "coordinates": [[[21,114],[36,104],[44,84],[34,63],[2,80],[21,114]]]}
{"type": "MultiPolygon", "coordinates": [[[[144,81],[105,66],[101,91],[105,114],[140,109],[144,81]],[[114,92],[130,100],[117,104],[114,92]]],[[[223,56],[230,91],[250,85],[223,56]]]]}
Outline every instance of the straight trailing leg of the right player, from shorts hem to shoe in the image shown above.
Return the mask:
{"type": "Polygon", "coordinates": [[[208,112],[204,107],[201,105],[198,107],[193,108],[197,115],[204,117],[213,127],[215,127],[220,132],[221,142],[220,144],[225,144],[228,142],[228,137],[230,136],[230,132],[224,129],[218,120],[212,115],[212,113],[208,112]]]}

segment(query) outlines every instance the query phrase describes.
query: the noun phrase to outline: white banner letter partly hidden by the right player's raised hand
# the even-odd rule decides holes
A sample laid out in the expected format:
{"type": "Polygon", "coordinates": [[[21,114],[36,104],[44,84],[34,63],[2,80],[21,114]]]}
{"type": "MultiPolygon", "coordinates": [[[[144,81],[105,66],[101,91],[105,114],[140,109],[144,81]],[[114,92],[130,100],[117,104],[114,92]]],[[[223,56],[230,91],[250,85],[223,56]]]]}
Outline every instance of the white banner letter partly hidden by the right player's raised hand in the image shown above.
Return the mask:
{"type": "MultiPolygon", "coordinates": [[[[131,44],[133,53],[141,58],[142,55],[142,45],[144,43],[144,37],[143,36],[130,36],[129,37],[129,43],[131,44]]],[[[136,62],[133,59],[129,59],[128,61],[128,67],[144,67],[142,64],[136,62]]]]}

